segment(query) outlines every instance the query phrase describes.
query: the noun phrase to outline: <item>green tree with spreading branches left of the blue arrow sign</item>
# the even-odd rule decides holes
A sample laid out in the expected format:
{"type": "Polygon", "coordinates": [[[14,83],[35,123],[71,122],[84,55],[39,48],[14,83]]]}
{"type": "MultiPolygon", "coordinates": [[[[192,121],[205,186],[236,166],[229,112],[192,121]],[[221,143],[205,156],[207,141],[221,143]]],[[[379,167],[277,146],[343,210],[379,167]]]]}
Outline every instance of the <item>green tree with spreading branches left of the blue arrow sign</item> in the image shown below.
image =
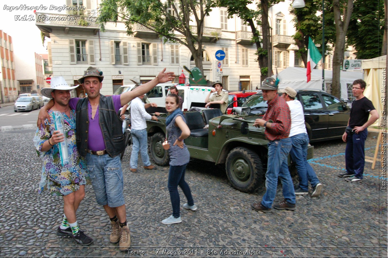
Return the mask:
{"type": "Polygon", "coordinates": [[[104,30],[105,23],[115,22],[120,17],[125,21],[128,35],[133,34],[133,24],[137,23],[158,33],[164,42],[181,43],[189,48],[196,66],[203,71],[204,17],[212,7],[215,2],[211,0],[103,0],[99,21],[104,30]],[[189,24],[192,17],[197,24],[195,31],[189,24]]]}

